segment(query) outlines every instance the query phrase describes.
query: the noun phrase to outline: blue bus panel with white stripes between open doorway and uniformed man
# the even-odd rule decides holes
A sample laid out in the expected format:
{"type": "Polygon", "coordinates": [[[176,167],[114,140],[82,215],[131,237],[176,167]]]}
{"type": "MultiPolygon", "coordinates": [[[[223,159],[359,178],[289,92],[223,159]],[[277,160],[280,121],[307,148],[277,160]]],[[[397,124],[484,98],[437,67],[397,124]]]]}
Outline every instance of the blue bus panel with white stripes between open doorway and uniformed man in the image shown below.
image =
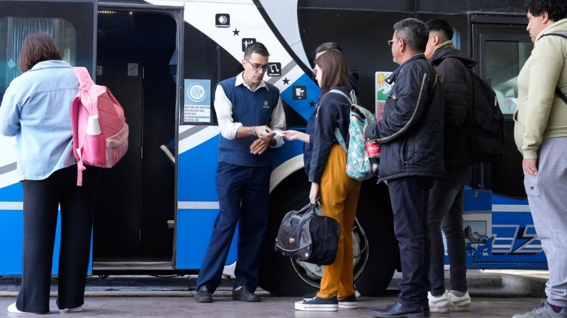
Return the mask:
{"type": "MultiPolygon", "coordinates": [[[[218,126],[179,126],[176,269],[199,269],[205,257],[218,215],[218,139],[218,126]]],[[[227,265],[236,261],[236,242],[237,230],[227,265]]]]}

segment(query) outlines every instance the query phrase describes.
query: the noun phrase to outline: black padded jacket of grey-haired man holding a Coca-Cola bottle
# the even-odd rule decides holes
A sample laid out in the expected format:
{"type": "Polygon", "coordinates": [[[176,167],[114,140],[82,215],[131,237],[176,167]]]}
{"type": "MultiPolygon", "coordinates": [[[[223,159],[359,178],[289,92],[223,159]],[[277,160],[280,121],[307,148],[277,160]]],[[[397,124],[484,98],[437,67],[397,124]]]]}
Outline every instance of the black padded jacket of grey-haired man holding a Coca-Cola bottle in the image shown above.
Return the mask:
{"type": "Polygon", "coordinates": [[[386,79],[393,83],[382,119],[364,137],[381,145],[379,181],[444,175],[444,93],[437,73],[416,54],[386,79]]]}

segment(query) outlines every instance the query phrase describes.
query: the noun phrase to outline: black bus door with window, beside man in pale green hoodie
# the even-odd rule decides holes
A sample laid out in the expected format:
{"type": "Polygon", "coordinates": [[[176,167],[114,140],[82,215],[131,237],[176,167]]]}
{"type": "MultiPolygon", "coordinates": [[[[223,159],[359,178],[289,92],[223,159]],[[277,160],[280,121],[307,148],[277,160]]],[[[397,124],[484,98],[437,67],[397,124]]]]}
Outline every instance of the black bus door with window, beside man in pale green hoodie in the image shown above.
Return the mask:
{"type": "Polygon", "coordinates": [[[500,162],[490,164],[490,167],[477,165],[471,184],[480,184],[495,194],[525,198],[522,156],[514,141],[511,114],[516,109],[517,76],[534,45],[526,32],[524,17],[478,16],[473,17],[473,22],[475,20],[478,23],[473,23],[473,58],[478,63],[474,71],[490,83],[505,114],[506,150],[500,162]]]}

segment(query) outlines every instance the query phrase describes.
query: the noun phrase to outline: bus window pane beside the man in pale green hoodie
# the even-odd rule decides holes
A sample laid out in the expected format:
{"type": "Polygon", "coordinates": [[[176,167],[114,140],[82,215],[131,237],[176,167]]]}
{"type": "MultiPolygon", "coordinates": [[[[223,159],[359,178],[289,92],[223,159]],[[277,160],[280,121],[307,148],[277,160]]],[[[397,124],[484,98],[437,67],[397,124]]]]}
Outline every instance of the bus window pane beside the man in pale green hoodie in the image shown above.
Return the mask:
{"type": "Polygon", "coordinates": [[[486,41],[486,78],[503,114],[513,114],[518,97],[518,73],[534,48],[532,42],[486,41]]]}

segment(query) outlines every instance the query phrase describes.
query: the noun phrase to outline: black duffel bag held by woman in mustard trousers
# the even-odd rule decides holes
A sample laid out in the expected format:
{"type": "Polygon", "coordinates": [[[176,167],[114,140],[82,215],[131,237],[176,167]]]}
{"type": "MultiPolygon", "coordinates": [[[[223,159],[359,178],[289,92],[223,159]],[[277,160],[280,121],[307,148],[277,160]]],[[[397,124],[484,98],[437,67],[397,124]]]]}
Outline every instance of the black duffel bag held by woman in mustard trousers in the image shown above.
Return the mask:
{"type": "Polygon", "coordinates": [[[329,265],[337,257],[341,228],[324,216],[320,201],[283,217],[276,237],[276,251],[283,256],[317,265],[329,265]]]}

